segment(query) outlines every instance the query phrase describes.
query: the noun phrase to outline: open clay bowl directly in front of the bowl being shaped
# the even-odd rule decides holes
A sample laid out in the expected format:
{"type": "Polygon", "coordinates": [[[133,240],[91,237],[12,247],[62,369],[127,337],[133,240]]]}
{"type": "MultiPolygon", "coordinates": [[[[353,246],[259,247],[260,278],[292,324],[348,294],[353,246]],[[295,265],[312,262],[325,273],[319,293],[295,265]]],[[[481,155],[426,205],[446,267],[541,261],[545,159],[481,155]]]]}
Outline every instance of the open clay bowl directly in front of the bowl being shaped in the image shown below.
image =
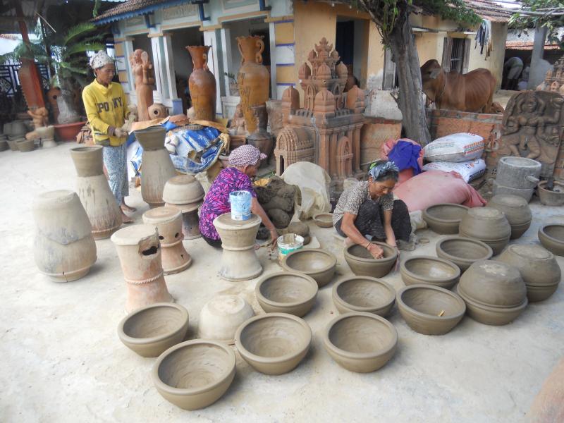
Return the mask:
{"type": "Polygon", "coordinates": [[[396,302],[396,290],[376,278],[353,276],[336,283],[331,297],[341,314],[366,312],[386,317],[396,302]]]}

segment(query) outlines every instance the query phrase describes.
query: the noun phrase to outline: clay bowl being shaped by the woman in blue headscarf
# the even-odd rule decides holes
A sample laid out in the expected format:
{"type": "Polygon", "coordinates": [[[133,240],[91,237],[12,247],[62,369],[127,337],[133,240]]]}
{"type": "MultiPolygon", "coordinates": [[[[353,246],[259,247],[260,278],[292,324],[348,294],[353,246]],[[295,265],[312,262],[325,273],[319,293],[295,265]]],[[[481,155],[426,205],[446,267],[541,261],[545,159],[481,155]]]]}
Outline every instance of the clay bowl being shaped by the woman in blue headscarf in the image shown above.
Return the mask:
{"type": "Polygon", "coordinates": [[[378,245],[384,250],[383,258],[374,259],[370,252],[362,245],[353,244],[345,248],[343,254],[353,274],[382,278],[390,273],[393,264],[398,259],[398,252],[386,243],[373,242],[373,244],[378,245]]]}

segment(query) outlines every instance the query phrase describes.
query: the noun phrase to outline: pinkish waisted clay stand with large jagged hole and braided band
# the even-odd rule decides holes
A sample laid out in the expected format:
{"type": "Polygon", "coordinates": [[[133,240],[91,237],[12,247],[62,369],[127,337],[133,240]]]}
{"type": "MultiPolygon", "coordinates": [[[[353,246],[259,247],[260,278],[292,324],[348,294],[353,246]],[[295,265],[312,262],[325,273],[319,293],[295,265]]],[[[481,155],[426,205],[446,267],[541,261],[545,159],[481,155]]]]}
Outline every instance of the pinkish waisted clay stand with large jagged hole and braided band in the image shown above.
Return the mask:
{"type": "Polygon", "coordinates": [[[111,241],[116,245],[123,278],[127,283],[126,312],[155,302],[173,301],[164,281],[161,244],[154,226],[122,228],[111,235],[111,241]]]}

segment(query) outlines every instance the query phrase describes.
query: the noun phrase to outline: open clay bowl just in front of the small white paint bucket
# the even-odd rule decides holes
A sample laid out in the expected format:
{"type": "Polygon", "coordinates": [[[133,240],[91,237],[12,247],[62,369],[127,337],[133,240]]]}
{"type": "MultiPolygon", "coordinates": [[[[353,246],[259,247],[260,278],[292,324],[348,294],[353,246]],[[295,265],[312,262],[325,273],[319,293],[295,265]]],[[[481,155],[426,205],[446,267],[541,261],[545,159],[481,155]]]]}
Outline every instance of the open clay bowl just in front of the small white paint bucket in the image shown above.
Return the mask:
{"type": "Polygon", "coordinates": [[[311,276],[321,288],[331,282],[337,266],[337,258],[321,248],[307,248],[290,252],[281,262],[287,271],[297,271],[311,276]]]}

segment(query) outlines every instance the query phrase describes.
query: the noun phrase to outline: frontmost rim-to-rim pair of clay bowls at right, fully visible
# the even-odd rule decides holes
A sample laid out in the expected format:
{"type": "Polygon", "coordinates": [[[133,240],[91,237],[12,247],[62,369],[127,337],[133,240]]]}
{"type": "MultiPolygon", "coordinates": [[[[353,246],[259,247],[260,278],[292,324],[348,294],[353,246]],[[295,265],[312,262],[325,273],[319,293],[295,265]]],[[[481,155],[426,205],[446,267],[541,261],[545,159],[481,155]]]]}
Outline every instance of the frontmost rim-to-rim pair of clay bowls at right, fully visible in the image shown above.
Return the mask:
{"type": "Polygon", "coordinates": [[[527,307],[527,287],[517,268],[501,262],[475,262],[456,287],[472,319],[501,326],[519,317],[527,307]]]}

